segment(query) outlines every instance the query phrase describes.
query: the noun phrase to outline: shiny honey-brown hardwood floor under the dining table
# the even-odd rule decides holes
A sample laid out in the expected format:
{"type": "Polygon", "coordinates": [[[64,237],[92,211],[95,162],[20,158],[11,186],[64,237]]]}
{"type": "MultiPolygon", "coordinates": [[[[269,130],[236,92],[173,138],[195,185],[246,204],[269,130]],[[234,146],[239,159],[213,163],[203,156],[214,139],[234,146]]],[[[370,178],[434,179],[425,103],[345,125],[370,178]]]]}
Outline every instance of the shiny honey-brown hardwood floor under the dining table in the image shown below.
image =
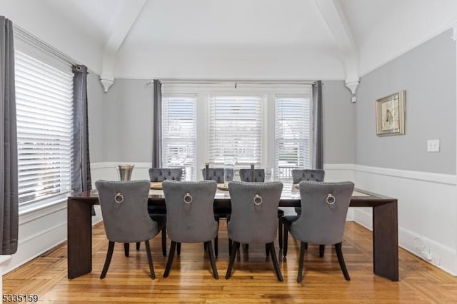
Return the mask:
{"type": "Polygon", "coordinates": [[[333,248],[326,246],[324,257],[319,258],[318,246],[310,245],[301,284],[296,283],[299,243],[290,236],[287,258],[278,253],[284,282],[276,280],[261,244],[251,244],[248,253],[241,253],[226,280],[225,221],[221,221],[216,259],[219,280],[212,276],[202,244],[183,244],[169,278],[163,278],[166,257],[161,255],[159,235],[151,241],[155,280],[149,278],[144,243],[139,252],[131,244],[129,258],[124,256],[124,246],[116,243],[106,278],[100,280],[108,240],[102,223],[93,232],[92,273],[66,278],[64,243],[4,275],[4,294],[38,294],[39,303],[457,303],[457,278],[405,250],[399,250],[399,282],[373,275],[371,232],[353,222],[346,224],[343,240],[351,281],[344,280],[333,248]]]}

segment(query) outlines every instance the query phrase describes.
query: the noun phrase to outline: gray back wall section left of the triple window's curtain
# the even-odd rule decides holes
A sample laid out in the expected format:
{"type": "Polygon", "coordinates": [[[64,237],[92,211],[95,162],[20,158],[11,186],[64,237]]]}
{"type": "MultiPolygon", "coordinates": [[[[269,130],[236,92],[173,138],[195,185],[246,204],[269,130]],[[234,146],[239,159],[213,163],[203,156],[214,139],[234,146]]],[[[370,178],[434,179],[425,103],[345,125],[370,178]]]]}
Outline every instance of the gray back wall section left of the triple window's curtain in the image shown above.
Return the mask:
{"type": "Polygon", "coordinates": [[[152,86],[116,79],[104,96],[104,161],[150,163],[152,86]]]}

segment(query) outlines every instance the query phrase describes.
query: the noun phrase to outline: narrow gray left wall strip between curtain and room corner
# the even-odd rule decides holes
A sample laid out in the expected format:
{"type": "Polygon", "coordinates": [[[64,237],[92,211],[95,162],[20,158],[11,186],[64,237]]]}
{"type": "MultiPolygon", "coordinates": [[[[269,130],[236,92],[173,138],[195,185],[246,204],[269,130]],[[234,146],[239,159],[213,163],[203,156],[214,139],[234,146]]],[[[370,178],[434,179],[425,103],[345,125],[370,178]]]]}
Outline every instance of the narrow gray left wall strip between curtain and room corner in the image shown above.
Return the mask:
{"type": "Polygon", "coordinates": [[[89,112],[89,151],[91,162],[104,161],[104,93],[99,76],[89,73],[87,76],[87,105],[89,112]]]}

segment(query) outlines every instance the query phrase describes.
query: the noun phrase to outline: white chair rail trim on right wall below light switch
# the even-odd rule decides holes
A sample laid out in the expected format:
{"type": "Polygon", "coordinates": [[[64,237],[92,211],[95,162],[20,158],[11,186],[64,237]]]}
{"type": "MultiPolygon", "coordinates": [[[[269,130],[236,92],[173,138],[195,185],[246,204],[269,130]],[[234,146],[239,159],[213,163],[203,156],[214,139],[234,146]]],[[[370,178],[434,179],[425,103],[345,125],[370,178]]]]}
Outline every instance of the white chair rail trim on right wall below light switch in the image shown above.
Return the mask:
{"type": "Polygon", "coordinates": [[[431,172],[421,172],[421,171],[408,171],[408,170],[399,170],[393,168],[381,168],[381,167],[371,167],[371,166],[362,166],[355,165],[354,170],[356,172],[366,172],[379,174],[383,176],[395,176],[399,178],[408,178],[417,181],[429,181],[433,183],[445,183],[448,185],[457,185],[457,176],[455,174],[443,174],[443,173],[431,173],[431,172]]]}

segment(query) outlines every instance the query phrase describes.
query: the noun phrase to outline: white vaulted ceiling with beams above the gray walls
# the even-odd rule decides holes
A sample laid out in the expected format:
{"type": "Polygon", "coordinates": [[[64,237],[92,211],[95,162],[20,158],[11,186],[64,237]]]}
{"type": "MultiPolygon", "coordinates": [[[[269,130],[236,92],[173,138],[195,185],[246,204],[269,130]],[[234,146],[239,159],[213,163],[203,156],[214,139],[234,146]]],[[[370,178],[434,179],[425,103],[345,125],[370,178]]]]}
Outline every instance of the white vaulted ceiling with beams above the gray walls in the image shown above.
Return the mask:
{"type": "Polygon", "coordinates": [[[127,78],[347,80],[457,19],[454,0],[0,1],[22,28],[127,78]]]}

